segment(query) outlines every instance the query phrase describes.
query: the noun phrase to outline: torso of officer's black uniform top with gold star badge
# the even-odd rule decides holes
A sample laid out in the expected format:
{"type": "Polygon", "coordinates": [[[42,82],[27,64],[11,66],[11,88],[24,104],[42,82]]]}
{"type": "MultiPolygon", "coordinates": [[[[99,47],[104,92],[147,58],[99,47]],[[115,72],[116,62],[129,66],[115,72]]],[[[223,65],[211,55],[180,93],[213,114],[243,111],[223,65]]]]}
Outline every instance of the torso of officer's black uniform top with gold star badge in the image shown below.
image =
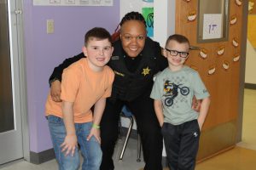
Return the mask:
{"type": "Polygon", "coordinates": [[[151,91],[154,75],[167,66],[160,44],[147,38],[143,51],[135,58],[125,54],[120,40],[113,43],[113,48],[108,63],[115,73],[111,98],[131,101],[151,91]]]}

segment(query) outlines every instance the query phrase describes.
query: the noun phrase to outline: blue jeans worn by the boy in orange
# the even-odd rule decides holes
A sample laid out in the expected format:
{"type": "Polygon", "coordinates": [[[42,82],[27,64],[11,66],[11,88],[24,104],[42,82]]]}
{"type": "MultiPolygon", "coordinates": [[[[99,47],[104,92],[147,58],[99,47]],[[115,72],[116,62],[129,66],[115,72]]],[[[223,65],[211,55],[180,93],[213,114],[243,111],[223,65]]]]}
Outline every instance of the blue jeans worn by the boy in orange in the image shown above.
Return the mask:
{"type": "MultiPolygon", "coordinates": [[[[47,119],[59,170],[79,169],[80,159],[78,148],[75,150],[73,156],[71,154],[65,156],[65,153],[61,152],[61,144],[66,137],[66,128],[63,120],[57,116],[47,116],[47,119]]],[[[102,162],[101,145],[96,141],[96,138],[92,136],[89,141],[86,140],[91,126],[92,122],[75,123],[78,143],[80,144],[80,150],[84,157],[83,170],[98,170],[102,162]]]]}

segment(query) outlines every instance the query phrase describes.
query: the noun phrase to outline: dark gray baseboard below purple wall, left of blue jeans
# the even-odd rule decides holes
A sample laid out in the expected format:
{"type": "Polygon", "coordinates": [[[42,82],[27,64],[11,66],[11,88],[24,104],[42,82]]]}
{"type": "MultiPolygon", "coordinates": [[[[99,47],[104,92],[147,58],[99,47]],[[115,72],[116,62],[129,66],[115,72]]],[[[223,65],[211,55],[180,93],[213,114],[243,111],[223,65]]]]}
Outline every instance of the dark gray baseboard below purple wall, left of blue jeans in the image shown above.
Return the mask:
{"type": "Polygon", "coordinates": [[[55,151],[53,149],[44,150],[42,152],[36,153],[30,151],[30,162],[34,164],[44,163],[45,161],[49,161],[55,159],[55,151]]]}

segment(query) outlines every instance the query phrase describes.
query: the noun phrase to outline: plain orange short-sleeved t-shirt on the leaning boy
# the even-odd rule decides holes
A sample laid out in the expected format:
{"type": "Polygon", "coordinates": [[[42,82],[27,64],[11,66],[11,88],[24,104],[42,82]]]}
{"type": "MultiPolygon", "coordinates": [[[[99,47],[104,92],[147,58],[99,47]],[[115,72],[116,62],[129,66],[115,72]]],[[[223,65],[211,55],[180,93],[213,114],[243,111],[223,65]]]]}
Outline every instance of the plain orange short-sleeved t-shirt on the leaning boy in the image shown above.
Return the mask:
{"type": "MultiPolygon", "coordinates": [[[[104,66],[100,72],[92,71],[88,59],[80,59],[63,71],[61,82],[61,99],[73,102],[74,122],[91,122],[90,108],[98,99],[111,95],[114,73],[110,67],[104,66]]],[[[46,116],[54,115],[62,118],[61,102],[55,102],[50,94],[46,101],[46,116]]]]}

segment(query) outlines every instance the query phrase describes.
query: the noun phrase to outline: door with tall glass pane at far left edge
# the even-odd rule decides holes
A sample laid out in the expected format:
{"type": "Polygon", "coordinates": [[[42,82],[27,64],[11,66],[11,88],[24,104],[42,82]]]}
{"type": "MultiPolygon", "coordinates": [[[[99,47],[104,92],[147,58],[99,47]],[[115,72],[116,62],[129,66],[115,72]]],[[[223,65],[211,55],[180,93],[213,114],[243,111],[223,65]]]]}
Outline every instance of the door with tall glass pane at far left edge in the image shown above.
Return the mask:
{"type": "Polygon", "coordinates": [[[0,165],[23,157],[16,0],[0,0],[0,165]]]}

